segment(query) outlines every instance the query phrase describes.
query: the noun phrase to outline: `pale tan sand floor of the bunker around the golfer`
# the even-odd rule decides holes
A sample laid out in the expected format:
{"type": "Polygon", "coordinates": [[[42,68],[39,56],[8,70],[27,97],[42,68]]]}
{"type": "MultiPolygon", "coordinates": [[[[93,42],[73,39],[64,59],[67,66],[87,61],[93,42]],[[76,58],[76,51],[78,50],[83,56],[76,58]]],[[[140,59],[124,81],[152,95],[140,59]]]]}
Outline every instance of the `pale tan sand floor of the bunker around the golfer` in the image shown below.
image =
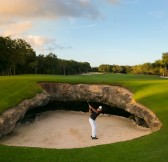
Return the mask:
{"type": "Polygon", "coordinates": [[[114,115],[97,118],[98,140],[92,140],[89,113],[50,111],[41,113],[36,122],[19,124],[0,144],[43,148],[80,148],[131,140],[147,135],[149,129],[114,115]]]}

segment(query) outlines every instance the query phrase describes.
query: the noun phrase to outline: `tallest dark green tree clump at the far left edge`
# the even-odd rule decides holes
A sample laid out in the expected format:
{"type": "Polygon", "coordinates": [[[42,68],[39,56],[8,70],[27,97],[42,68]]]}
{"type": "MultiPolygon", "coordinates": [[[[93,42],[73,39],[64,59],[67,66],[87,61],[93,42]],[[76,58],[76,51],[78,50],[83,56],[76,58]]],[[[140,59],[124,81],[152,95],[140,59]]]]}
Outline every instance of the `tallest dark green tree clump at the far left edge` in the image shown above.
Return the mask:
{"type": "Polygon", "coordinates": [[[27,70],[27,67],[24,66],[27,64],[26,57],[28,55],[35,56],[29,43],[23,39],[11,39],[10,37],[0,37],[0,53],[2,75],[24,73],[23,71],[27,70]]]}

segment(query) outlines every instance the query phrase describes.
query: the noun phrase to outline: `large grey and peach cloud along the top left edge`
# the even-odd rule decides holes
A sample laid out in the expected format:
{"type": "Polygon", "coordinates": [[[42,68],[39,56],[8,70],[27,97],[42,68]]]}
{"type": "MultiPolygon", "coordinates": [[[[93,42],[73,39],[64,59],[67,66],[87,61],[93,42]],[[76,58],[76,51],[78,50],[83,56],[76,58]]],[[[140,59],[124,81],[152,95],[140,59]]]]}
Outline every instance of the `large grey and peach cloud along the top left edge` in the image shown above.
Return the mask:
{"type": "Polygon", "coordinates": [[[0,15],[0,22],[4,21],[2,17],[8,21],[16,18],[101,17],[92,0],[5,0],[1,2],[0,15]]]}

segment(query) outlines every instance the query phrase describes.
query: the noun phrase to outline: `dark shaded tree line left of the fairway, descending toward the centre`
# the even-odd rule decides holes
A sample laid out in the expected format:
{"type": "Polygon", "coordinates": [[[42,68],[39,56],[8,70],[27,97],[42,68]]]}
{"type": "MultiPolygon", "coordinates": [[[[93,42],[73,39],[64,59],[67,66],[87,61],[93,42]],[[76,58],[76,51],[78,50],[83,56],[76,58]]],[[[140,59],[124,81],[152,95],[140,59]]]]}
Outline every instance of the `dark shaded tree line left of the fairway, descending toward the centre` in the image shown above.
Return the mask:
{"type": "Polygon", "coordinates": [[[0,36],[0,75],[72,75],[87,73],[90,69],[88,62],[60,59],[53,53],[36,55],[25,40],[0,36]]]}

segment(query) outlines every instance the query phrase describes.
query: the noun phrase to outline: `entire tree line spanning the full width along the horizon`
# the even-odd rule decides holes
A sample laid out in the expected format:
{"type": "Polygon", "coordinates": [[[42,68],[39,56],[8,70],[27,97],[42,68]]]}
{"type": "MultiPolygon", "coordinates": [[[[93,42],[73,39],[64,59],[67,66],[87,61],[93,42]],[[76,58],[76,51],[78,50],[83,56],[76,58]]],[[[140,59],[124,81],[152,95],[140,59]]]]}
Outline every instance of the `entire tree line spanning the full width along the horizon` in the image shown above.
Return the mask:
{"type": "Polygon", "coordinates": [[[153,63],[135,66],[102,64],[99,67],[91,68],[88,62],[60,59],[54,53],[36,55],[34,49],[25,40],[0,36],[0,75],[74,75],[89,71],[168,76],[168,52],[163,53],[162,59],[153,63]]]}

